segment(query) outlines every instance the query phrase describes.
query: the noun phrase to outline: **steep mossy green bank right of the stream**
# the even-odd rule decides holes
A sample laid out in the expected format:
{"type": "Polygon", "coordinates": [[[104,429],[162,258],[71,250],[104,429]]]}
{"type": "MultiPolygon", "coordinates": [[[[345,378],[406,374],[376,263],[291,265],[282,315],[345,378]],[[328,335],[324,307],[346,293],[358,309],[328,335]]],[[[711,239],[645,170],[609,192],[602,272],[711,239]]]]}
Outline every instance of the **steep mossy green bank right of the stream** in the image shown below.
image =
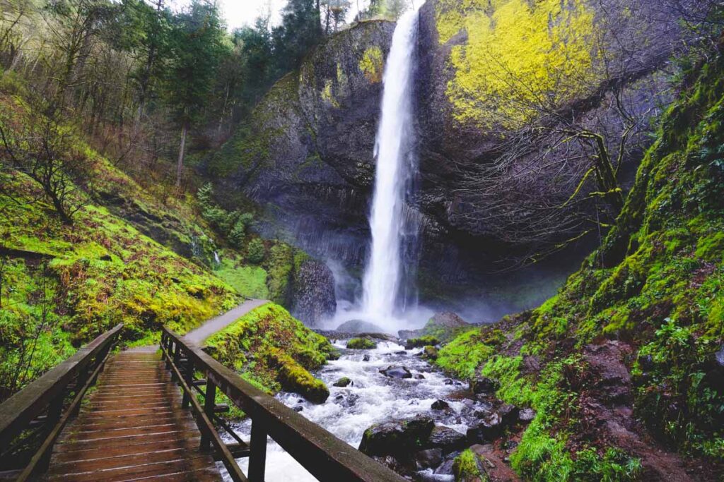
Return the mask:
{"type": "Polygon", "coordinates": [[[597,382],[584,354],[618,340],[634,416],[684,457],[724,462],[724,60],[686,79],[644,156],[615,227],[557,296],[455,337],[437,363],[500,382],[536,410],[510,457],[531,480],[635,480],[639,455],[586,428],[581,393],[597,382]],[[497,332],[497,333],[496,333],[497,332]]]}

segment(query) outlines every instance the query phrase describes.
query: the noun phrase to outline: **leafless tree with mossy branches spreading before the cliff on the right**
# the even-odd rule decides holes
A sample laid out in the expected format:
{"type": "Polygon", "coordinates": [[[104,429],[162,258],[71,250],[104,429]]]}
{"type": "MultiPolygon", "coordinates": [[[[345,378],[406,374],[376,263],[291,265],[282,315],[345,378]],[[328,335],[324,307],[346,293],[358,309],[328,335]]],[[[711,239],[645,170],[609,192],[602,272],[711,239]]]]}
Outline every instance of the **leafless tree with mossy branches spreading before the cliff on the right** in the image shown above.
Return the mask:
{"type": "Polygon", "coordinates": [[[452,210],[473,231],[521,248],[503,269],[601,236],[613,224],[624,203],[623,167],[651,142],[651,121],[671,96],[669,61],[691,40],[671,9],[641,0],[595,3],[596,31],[586,40],[592,63],[547,66],[552,92],[487,57],[508,93],[487,99],[496,106],[499,148],[492,162],[466,167],[452,210]],[[571,85],[575,97],[566,94],[571,85]]]}

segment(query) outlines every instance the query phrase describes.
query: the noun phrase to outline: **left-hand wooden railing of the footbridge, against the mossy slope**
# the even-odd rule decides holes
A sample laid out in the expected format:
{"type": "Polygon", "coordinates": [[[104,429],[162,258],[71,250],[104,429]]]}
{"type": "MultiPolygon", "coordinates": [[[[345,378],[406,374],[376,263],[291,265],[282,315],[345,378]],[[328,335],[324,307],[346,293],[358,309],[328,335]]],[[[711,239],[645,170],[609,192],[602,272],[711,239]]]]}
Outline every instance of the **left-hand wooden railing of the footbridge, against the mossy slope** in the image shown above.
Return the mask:
{"type": "Polygon", "coordinates": [[[53,444],[80,410],[122,328],[118,324],[100,335],[0,405],[0,460],[17,462],[9,468],[25,467],[17,481],[33,480],[48,469],[53,444]],[[66,406],[69,395],[72,400],[66,406]],[[19,445],[37,447],[33,440],[42,442],[28,462],[19,445]]]}

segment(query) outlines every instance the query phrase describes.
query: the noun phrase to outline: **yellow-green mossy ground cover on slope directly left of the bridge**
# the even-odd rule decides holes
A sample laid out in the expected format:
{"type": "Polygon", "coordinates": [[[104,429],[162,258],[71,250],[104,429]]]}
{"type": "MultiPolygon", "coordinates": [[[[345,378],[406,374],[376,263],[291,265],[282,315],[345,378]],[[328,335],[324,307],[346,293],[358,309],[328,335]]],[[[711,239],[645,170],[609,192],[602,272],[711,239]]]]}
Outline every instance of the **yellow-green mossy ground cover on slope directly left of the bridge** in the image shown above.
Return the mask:
{"type": "MultiPolygon", "coordinates": [[[[4,88],[0,112],[11,139],[43,122],[4,88]]],[[[0,398],[118,323],[125,344],[147,345],[164,324],[186,332],[238,302],[209,270],[214,240],[189,197],[157,199],[74,126],[57,130],[67,136],[57,155],[77,156],[88,171],[85,184],[69,184],[79,207],[72,224],[0,155],[0,398]]]]}

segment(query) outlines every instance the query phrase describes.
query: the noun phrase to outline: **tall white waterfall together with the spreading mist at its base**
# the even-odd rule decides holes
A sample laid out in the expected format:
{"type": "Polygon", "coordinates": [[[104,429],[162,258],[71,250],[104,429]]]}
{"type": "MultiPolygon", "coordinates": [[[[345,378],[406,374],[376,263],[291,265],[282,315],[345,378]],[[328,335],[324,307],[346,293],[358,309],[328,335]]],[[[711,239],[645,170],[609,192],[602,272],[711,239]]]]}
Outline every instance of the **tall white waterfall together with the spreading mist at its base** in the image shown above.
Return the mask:
{"type": "Polygon", "coordinates": [[[420,225],[414,208],[408,204],[417,175],[413,127],[417,33],[417,9],[412,9],[397,21],[384,67],[374,147],[371,247],[362,279],[362,296],[353,306],[342,303],[332,323],[361,319],[384,331],[396,332],[418,327],[432,314],[417,306],[414,275],[420,225]]]}

